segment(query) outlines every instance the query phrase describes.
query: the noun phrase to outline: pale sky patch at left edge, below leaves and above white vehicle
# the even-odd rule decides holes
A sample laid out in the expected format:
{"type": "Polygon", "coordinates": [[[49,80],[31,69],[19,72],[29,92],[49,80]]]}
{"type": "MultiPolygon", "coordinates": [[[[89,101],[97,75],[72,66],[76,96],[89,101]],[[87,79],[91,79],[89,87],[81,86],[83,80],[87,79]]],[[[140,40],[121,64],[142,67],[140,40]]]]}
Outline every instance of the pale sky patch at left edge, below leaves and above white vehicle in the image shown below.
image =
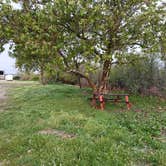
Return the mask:
{"type": "Polygon", "coordinates": [[[5,74],[16,74],[18,71],[15,67],[15,59],[9,57],[9,44],[6,44],[4,52],[0,53],[0,70],[3,70],[5,74]]]}

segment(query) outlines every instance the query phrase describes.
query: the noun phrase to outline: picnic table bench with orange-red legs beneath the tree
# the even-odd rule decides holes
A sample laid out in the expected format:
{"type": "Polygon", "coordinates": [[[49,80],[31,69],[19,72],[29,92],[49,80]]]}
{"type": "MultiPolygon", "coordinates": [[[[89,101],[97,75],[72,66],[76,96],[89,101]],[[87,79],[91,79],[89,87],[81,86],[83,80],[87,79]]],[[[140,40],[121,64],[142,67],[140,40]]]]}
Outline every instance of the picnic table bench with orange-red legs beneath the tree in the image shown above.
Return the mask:
{"type": "Polygon", "coordinates": [[[125,102],[127,109],[129,110],[131,108],[129,94],[94,94],[91,99],[93,103],[96,103],[97,101],[100,103],[101,110],[104,110],[107,101],[113,101],[114,103],[125,102]],[[124,100],[122,100],[122,98],[124,98],[124,100]]]}

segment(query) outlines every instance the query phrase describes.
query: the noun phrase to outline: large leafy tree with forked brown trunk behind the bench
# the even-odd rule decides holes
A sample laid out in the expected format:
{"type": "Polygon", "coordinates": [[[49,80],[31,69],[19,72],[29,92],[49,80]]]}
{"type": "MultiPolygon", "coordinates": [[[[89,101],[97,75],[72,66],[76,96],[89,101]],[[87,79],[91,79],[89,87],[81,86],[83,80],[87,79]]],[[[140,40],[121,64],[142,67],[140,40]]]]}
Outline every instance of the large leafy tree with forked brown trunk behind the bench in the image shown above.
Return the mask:
{"type": "Polygon", "coordinates": [[[63,50],[72,47],[72,51],[62,51],[63,58],[72,63],[79,53],[88,70],[82,73],[70,66],[70,71],[87,79],[94,92],[103,93],[112,65],[136,61],[138,48],[144,55],[157,52],[157,10],[156,0],[55,1],[57,26],[65,36],[63,50]],[[96,85],[86,73],[98,67],[102,68],[102,76],[96,85]]]}

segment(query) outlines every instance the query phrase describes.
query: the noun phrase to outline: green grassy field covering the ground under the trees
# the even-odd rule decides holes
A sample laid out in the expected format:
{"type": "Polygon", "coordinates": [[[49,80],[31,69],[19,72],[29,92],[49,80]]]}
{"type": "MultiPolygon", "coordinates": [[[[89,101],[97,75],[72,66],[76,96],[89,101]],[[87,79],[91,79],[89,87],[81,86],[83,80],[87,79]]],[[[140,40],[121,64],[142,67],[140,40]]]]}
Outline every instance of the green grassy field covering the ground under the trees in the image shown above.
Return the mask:
{"type": "Polygon", "coordinates": [[[132,110],[109,104],[102,112],[90,107],[88,93],[14,88],[0,112],[0,165],[166,165],[166,101],[131,96],[132,110]]]}

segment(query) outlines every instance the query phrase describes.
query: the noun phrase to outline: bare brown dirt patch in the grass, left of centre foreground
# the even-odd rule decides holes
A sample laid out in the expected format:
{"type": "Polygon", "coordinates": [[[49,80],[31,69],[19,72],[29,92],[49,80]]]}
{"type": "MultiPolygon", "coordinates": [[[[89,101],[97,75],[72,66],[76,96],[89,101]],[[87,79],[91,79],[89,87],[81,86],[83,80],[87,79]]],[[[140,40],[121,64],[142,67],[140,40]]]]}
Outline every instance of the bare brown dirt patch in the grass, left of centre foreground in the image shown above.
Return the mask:
{"type": "Polygon", "coordinates": [[[39,131],[39,134],[56,135],[56,136],[59,136],[63,139],[70,139],[70,138],[75,138],[76,137],[76,135],[74,135],[74,134],[69,134],[69,133],[66,133],[64,131],[53,130],[53,129],[46,129],[46,130],[39,131]]]}

